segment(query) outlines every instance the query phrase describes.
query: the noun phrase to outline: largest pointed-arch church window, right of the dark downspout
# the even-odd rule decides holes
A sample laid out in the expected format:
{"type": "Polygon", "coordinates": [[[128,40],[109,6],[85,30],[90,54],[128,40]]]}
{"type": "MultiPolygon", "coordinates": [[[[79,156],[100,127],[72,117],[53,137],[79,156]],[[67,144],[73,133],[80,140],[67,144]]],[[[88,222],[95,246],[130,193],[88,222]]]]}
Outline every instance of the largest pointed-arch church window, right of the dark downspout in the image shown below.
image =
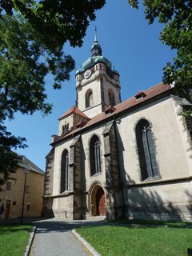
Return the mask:
{"type": "Polygon", "coordinates": [[[142,180],[158,178],[158,165],[155,156],[155,145],[150,123],[142,119],[136,126],[138,156],[142,172],[142,180]]]}

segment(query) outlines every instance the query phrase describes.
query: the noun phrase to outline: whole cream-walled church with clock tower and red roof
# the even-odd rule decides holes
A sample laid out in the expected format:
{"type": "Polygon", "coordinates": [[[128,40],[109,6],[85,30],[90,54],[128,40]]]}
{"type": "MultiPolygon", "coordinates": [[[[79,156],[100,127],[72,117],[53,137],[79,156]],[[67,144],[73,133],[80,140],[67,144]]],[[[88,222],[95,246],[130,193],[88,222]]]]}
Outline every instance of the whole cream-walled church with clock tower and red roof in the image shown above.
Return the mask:
{"type": "Polygon", "coordinates": [[[192,106],[162,82],[121,101],[97,37],[46,155],[44,216],[192,220],[192,106]]]}

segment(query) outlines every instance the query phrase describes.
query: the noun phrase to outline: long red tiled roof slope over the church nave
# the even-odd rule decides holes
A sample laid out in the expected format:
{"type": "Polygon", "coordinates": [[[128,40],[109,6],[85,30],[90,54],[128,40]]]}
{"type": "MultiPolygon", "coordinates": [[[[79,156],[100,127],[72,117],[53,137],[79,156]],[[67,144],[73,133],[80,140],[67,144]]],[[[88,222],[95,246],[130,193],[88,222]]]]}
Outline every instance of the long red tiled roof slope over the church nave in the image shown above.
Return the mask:
{"type": "Polygon", "coordinates": [[[69,134],[66,134],[66,136],[56,139],[55,142],[59,141],[62,138],[67,138],[71,134],[76,133],[78,130],[84,130],[88,126],[92,126],[92,125],[94,125],[98,122],[101,122],[101,121],[113,116],[114,114],[120,114],[125,110],[131,109],[134,106],[139,106],[142,102],[146,102],[147,100],[149,100],[151,98],[154,98],[155,96],[158,96],[158,95],[160,95],[160,94],[162,94],[162,93],[164,93],[164,92],[166,92],[170,89],[171,89],[170,85],[164,85],[162,82],[160,82],[157,85],[155,85],[153,87],[150,87],[150,89],[142,91],[144,94],[146,94],[146,97],[138,98],[138,99],[135,98],[135,97],[129,98],[125,102],[121,102],[118,105],[114,106],[114,112],[113,113],[106,114],[105,112],[102,112],[101,114],[96,115],[94,118],[91,118],[90,121],[88,121],[86,123],[86,125],[83,126],[82,128],[72,130],[69,134]]]}

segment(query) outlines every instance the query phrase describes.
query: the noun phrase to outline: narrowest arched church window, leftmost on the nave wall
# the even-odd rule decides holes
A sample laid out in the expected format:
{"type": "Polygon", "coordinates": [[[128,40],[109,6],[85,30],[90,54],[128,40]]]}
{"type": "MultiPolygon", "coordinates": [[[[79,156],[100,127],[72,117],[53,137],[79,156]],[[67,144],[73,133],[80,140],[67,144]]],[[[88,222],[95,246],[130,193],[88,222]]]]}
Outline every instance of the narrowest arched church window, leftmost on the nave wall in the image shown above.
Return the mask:
{"type": "Polygon", "coordinates": [[[62,152],[60,193],[67,190],[69,190],[69,154],[67,150],[64,150],[62,152]]]}

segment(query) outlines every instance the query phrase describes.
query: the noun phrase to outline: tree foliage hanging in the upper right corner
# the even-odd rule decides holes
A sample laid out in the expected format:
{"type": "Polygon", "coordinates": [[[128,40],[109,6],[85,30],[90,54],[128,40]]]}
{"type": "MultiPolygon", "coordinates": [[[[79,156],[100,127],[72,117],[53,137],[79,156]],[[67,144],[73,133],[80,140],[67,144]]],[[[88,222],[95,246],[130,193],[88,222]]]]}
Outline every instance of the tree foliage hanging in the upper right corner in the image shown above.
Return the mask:
{"type": "MultiPolygon", "coordinates": [[[[128,0],[138,8],[138,0],[128,0]]],[[[143,0],[149,24],[158,18],[165,26],[160,35],[163,44],[177,51],[174,62],[166,64],[163,81],[175,83],[182,93],[192,89],[192,2],[191,0],[143,0]]]]}

